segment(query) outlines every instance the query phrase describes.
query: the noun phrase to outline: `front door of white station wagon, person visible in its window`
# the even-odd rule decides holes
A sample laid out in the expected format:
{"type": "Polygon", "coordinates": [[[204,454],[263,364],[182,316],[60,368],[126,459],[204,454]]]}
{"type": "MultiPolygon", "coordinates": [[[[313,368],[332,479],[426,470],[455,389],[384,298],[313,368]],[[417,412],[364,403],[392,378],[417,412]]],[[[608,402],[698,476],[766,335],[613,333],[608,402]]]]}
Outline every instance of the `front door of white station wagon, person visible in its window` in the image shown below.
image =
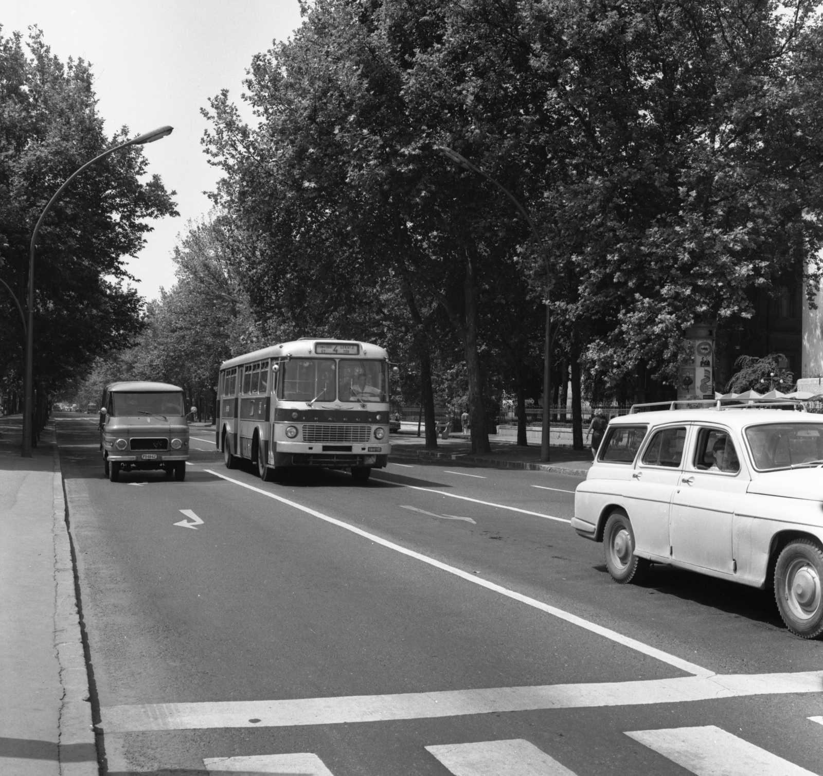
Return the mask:
{"type": "Polygon", "coordinates": [[[739,443],[721,425],[695,426],[690,453],[672,499],[672,560],[734,574],[734,511],[749,485],[739,443]],[[719,465],[718,465],[719,464],[719,465]]]}

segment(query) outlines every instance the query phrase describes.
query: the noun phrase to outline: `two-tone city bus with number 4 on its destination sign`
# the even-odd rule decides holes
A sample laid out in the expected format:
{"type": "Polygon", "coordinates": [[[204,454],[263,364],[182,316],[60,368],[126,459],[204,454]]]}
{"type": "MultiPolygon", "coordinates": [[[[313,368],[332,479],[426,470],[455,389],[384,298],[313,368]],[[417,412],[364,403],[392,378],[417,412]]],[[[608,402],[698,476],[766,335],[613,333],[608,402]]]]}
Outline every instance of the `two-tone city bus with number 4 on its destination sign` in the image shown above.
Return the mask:
{"type": "Polygon", "coordinates": [[[291,467],[350,469],[365,483],[391,449],[389,367],[370,342],[313,337],[224,361],[215,443],[226,467],[244,458],[263,481],[291,467]]]}

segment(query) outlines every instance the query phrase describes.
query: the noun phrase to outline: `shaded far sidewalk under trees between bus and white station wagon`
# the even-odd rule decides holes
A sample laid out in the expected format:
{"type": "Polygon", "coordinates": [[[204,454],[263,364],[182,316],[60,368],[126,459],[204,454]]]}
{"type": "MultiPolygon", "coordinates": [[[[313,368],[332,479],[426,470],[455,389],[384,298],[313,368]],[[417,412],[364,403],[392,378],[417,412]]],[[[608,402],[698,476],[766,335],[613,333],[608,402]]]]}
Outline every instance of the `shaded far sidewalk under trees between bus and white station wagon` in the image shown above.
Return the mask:
{"type": "Polygon", "coordinates": [[[425,448],[425,436],[417,436],[416,430],[410,434],[403,429],[391,434],[392,454],[390,458],[407,460],[425,458],[429,460],[459,461],[476,463],[480,466],[500,469],[526,469],[533,472],[559,472],[574,476],[586,476],[592,467],[590,450],[573,450],[567,447],[549,448],[549,462],[540,460],[540,445],[529,444],[518,447],[514,439],[495,439],[489,436],[491,453],[472,455],[472,442],[468,434],[449,434],[449,439],[438,439],[437,449],[425,448]]]}

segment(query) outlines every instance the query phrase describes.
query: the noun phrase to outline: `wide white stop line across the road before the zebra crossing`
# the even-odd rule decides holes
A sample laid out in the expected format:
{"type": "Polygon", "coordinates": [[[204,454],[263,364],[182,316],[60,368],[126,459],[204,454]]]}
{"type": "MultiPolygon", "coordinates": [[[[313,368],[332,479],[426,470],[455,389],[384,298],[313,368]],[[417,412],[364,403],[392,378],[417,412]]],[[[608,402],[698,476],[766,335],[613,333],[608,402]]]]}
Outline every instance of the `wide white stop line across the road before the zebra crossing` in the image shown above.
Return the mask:
{"type": "MultiPolygon", "coordinates": [[[[539,709],[679,704],[751,695],[820,693],[823,671],[796,674],[728,674],[579,685],[490,687],[337,698],[226,700],[141,704],[100,709],[106,735],[215,727],[291,727],[397,719],[458,717],[539,709]],[[259,722],[250,722],[257,719],[259,722]]],[[[756,770],[752,773],[757,773],[756,770]]]]}

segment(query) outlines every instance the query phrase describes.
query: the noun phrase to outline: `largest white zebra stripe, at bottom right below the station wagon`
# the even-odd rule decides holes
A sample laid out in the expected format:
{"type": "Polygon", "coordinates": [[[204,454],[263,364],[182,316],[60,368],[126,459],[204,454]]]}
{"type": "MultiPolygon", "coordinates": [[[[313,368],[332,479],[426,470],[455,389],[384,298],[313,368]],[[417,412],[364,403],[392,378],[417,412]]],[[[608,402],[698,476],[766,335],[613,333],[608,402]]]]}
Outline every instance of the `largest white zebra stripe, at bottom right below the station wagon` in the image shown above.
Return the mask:
{"type": "Polygon", "coordinates": [[[816,776],[715,725],[626,732],[697,776],[816,776]]]}

